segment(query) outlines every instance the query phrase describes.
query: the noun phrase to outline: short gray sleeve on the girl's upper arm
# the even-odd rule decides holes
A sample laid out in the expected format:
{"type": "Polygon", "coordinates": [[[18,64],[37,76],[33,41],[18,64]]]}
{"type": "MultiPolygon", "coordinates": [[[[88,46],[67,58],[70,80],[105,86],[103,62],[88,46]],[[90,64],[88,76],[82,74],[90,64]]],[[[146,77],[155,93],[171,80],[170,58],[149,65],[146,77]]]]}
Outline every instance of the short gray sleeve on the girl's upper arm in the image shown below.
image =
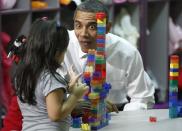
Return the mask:
{"type": "Polygon", "coordinates": [[[50,73],[47,73],[44,78],[43,78],[43,95],[47,96],[50,92],[56,90],[56,89],[63,89],[64,91],[66,91],[66,83],[64,82],[64,80],[59,81],[59,79],[61,80],[61,76],[59,75],[55,75],[58,80],[50,73]]]}

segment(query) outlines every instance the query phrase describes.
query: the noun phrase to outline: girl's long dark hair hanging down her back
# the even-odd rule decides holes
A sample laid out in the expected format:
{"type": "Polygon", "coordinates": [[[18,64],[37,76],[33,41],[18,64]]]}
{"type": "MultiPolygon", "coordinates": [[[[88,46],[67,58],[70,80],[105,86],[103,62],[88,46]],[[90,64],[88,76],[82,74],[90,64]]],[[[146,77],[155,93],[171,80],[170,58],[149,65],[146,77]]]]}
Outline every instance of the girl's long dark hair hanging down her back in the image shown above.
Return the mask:
{"type": "Polygon", "coordinates": [[[36,105],[35,88],[41,72],[47,70],[56,77],[60,67],[56,53],[66,51],[68,42],[67,30],[56,20],[38,19],[33,23],[15,75],[16,92],[23,103],[36,105]]]}

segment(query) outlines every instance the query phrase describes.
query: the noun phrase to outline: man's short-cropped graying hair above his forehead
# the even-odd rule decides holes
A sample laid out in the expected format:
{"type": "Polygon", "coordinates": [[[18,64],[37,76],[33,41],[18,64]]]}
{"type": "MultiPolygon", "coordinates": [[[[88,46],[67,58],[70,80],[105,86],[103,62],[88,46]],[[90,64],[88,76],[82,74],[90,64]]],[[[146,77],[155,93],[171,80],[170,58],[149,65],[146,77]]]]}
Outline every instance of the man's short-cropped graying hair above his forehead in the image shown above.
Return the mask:
{"type": "Polygon", "coordinates": [[[108,8],[98,0],[85,0],[80,5],[77,6],[75,14],[77,13],[77,11],[94,12],[94,13],[104,12],[107,16],[107,20],[109,20],[108,8]]]}

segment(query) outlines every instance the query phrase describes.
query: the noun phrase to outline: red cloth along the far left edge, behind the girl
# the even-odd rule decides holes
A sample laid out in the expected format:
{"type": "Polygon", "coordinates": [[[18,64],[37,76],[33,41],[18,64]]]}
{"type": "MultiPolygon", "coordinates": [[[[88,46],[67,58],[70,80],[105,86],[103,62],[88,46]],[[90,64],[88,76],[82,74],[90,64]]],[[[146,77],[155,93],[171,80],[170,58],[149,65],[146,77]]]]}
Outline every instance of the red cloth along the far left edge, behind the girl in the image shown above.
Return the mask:
{"type": "Polygon", "coordinates": [[[17,97],[13,89],[10,77],[10,68],[12,66],[13,60],[7,58],[7,53],[5,51],[6,46],[10,42],[11,38],[8,34],[0,32],[0,38],[2,40],[2,46],[0,45],[0,55],[2,56],[2,80],[1,85],[1,99],[0,104],[3,105],[7,113],[3,119],[3,128],[1,131],[21,131],[22,130],[22,114],[19,109],[17,102],[17,97]]]}

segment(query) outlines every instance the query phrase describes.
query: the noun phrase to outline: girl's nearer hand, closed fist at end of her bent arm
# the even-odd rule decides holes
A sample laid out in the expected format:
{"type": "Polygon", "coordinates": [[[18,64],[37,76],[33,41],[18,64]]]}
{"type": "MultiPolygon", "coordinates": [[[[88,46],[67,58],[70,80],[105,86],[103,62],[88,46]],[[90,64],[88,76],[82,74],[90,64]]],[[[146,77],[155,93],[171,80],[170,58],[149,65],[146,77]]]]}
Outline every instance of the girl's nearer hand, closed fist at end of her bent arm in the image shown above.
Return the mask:
{"type": "Polygon", "coordinates": [[[78,82],[75,84],[72,94],[75,95],[78,99],[82,98],[82,96],[88,91],[89,87],[84,83],[78,82]]]}

